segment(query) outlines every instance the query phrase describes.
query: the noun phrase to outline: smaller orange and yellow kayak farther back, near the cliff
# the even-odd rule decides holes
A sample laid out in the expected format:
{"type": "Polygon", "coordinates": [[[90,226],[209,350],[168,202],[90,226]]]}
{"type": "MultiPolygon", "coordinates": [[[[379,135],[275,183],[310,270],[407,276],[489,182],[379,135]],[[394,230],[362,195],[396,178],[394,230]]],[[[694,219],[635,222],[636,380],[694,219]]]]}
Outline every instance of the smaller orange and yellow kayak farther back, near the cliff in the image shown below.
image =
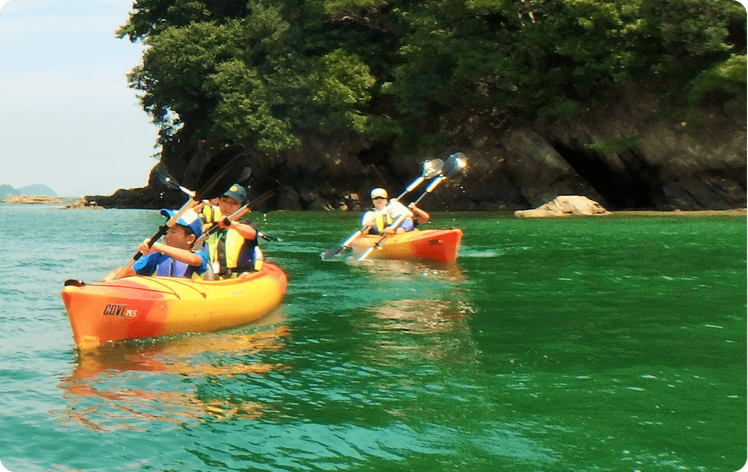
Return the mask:
{"type": "MultiPolygon", "coordinates": [[[[377,235],[361,235],[351,243],[355,254],[361,254],[381,238],[377,235]]],[[[431,261],[454,262],[462,241],[462,229],[414,229],[410,232],[387,236],[379,249],[369,257],[378,259],[429,259],[431,261]]]]}

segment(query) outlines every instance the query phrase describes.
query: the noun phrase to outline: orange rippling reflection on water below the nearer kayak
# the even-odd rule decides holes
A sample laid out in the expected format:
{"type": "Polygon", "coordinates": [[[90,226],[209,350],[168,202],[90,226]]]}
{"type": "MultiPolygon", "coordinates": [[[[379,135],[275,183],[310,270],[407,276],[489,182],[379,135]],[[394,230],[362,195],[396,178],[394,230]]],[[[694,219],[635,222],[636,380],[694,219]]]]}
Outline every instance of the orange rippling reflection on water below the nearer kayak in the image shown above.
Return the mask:
{"type": "Polygon", "coordinates": [[[283,312],[276,310],[259,326],[82,352],[58,384],[66,408],[52,414],[61,423],[102,432],[147,431],[150,422],[253,420],[266,407],[227,394],[223,384],[277,370],[264,359],[283,349],[288,337],[283,312]]]}

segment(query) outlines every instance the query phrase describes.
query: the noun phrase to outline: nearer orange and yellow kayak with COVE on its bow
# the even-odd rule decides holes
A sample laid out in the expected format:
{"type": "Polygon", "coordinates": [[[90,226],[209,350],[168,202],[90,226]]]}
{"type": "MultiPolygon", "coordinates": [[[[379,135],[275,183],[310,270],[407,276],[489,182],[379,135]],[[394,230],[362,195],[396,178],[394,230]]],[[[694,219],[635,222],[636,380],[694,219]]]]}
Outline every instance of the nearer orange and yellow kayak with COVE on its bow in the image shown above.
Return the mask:
{"type": "Polygon", "coordinates": [[[265,262],[236,279],[130,276],[62,290],[76,347],[208,332],[257,320],[281,303],[286,274],[265,262]]]}

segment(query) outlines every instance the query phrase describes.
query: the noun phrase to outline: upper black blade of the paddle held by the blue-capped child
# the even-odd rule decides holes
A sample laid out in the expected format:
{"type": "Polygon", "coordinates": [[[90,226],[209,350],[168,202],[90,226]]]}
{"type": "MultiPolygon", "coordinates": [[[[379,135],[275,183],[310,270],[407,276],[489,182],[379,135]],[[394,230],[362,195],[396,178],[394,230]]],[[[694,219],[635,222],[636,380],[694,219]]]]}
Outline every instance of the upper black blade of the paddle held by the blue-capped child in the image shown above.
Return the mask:
{"type": "Polygon", "coordinates": [[[221,149],[210,158],[197,181],[200,190],[194,193],[195,200],[215,199],[224,194],[228,187],[242,177],[247,155],[244,146],[233,144],[221,149]]]}

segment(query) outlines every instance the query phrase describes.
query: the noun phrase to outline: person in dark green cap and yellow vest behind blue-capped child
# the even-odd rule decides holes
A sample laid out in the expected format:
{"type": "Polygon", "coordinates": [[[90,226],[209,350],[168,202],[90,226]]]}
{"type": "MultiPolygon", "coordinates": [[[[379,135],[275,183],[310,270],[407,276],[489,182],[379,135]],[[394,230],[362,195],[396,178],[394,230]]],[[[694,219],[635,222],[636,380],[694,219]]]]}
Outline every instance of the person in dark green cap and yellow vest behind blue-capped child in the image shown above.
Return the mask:
{"type": "MultiPolygon", "coordinates": [[[[228,216],[239,210],[247,199],[247,190],[242,185],[233,184],[218,200],[221,214],[228,216]]],[[[244,220],[218,220],[221,231],[210,235],[206,240],[209,260],[213,272],[223,279],[236,277],[243,272],[260,270],[263,255],[257,244],[257,226],[244,220]]]]}

